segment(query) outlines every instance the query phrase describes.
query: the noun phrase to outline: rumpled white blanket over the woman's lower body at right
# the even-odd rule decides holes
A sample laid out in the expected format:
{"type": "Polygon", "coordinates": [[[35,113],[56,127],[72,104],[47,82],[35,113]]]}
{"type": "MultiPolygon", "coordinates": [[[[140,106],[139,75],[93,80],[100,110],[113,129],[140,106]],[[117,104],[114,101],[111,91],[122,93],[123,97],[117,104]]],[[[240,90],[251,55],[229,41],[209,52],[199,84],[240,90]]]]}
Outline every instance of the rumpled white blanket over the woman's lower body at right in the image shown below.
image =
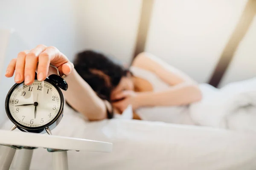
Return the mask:
{"type": "Polygon", "coordinates": [[[203,99],[190,106],[196,124],[256,132],[256,78],[201,90],[203,99]]]}

